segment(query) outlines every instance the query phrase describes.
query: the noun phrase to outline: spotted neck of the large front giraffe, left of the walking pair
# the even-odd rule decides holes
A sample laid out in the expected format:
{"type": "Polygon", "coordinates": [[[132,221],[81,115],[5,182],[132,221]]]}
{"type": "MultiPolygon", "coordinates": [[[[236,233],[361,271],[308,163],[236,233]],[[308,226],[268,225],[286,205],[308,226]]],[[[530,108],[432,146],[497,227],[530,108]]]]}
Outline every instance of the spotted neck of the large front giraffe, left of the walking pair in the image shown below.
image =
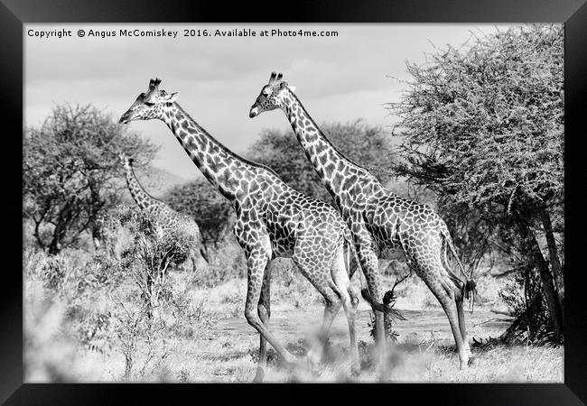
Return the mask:
{"type": "Polygon", "coordinates": [[[264,165],[247,161],[229,151],[177,103],[164,109],[163,122],[172,130],[206,179],[228,200],[245,198],[252,189],[258,188],[256,180],[259,177],[269,177],[273,178],[272,182],[283,183],[274,171],[264,165]]]}

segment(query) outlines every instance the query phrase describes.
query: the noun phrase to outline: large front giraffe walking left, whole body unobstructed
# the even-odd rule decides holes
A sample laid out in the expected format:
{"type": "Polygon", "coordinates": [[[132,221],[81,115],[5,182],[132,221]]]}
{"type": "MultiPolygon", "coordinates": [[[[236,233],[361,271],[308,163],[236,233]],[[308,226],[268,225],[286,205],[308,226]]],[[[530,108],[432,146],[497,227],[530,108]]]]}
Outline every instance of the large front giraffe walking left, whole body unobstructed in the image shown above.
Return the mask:
{"type": "Polygon", "coordinates": [[[265,165],[228,150],[175,102],[178,93],[160,90],[160,82],[151,79],[148,91],[136,98],[119,122],[162,120],[206,179],[235,209],[233,232],[247,258],[245,318],[260,336],[255,381],[263,379],[267,341],[286,364],[297,364],[267,328],[271,263],[278,257],[291,258],[325,300],[320,345],[312,346],[307,359],[320,359],[323,342],[342,306],[349,325],[351,366],[358,372],[354,318],[359,300],[349,281],[354,272],[349,266],[352,241],[338,211],[291,188],[265,165]]]}

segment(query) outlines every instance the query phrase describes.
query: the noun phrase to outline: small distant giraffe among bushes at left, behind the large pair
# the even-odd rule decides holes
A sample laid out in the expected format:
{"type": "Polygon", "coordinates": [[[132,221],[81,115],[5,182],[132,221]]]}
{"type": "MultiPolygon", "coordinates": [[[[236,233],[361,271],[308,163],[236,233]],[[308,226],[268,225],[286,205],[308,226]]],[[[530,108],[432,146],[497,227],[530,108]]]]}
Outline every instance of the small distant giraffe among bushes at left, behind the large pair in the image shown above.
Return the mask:
{"type": "Polygon", "coordinates": [[[130,191],[131,197],[135,200],[136,205],[142,211],[153,215],[157,220],[157,226],[160,226],[163,232],[169,230],[180,230],[184,235],[191,237],[191,239],[197,245],[191,249],[191,253],[189,255],[192,270],[198,269],[198,255],[196,254],[196,249],[198,248],[201,258],[206,263],[208,263],[206,255],[200,248],[200,227],[194,221],[194,219],[190,216],[173,210],[167,204],[163,203],[163,201],[154,198],[149,193],[147,193],[136,178],[135,170],[133,168],[133,162],[135,160],[133,158],[126,156],[126,153],[124,152],[120,152],[118,154],[118,158],[120,159],[125,169],[126,185],[130,191]]]}

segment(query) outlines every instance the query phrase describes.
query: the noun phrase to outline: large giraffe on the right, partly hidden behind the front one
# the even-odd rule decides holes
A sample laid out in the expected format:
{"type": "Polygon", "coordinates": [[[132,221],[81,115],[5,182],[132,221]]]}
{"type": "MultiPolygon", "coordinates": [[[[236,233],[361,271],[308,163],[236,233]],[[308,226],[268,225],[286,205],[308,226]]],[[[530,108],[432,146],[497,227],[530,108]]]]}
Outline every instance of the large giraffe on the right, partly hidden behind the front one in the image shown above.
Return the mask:
{"type": "MultiPolygon", "coordinates": [[[[391,193],[367,169],[349,160],[321,132],[293,91],[294,88],[283,80],[283,74],[273,72],[251,106],[249,116],[253,118],[276,108],[284,111],[306,157],[351,230],[368,282],[368,291],[363,291],[363,296],[377,303],[383,301],[377,256],[396,255],[397,252],[405,255],[410,269],[424,280],[443,306],[461,368],[468,366],[471,348],[462,302],[474,288],[474,282],[467,280],[443,219],[432,208],[391,193]],[[448,250],[465,275],[464,282],[451,272],[448,250]]],[[[376,338],[381,343],[385,340],[383,314],[373,304],[376,338]]]]}

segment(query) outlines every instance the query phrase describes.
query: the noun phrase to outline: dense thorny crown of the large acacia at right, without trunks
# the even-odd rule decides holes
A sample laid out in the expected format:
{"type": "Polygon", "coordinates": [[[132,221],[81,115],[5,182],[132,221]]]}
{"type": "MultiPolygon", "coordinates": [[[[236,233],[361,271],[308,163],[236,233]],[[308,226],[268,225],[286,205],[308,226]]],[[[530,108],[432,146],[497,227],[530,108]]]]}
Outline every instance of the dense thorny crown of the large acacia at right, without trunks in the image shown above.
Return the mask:
{"type": "Polygon", "coordinates": [[[390,105],[405,135],[396,169],[445,206],[563,198],[563,45],[560,26],[512,28],[408,64],[414,82],[390,105]]]}

